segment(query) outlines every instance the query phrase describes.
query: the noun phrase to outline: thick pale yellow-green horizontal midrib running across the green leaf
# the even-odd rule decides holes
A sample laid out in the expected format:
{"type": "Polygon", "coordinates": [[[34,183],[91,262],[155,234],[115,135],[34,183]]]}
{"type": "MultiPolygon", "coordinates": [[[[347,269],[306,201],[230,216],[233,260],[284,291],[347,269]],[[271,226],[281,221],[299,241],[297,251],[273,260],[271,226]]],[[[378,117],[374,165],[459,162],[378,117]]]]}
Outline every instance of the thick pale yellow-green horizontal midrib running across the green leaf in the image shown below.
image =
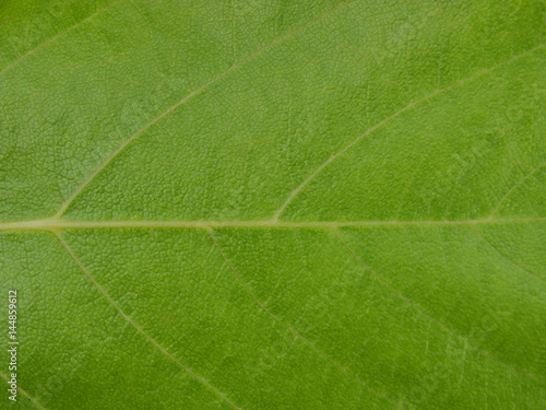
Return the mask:
{"type": "Polygon", "coordinates": [[[131,227],[178,227],[178,229],[215,229],[215,227],[324,227],[344,226],[443,226],[443,225],[479,225],[546,222],[546,218],[506,218],[477,219],[465,221],[310,221],[283,222],[261,221],[68,221],[61,219],[41,219],[0,223],[0,231],[58,231],[79,229],[131,229],[131,227]]]}

